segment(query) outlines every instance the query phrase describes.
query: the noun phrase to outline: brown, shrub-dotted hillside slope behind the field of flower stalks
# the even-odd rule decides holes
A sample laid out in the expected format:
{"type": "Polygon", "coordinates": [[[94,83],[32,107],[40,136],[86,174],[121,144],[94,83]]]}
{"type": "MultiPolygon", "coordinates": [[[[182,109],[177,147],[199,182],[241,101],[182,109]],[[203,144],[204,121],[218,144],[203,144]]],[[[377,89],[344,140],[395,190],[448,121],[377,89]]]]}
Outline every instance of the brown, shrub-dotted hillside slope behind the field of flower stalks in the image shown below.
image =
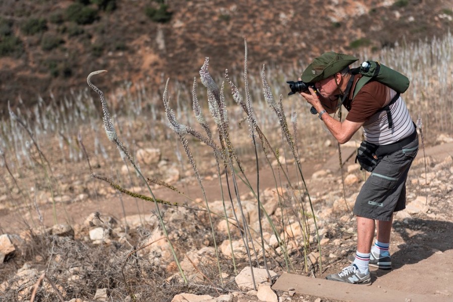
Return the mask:
{"type": "Polygon", "coordinates": [[[162,88],[167,77],[190,85],[205,57],[213,74],[242,68],[244,39],[250,68],[265,63],[301,71],[324,51],[377,51],[440,36],[453,15],[448,0],[168,0],[170,20],[153,21],[146,12],[162,3],[3,0],[0,109],[7,100],[17,105],[18,96],[27,105],[38,95],[46,101],[51,93],[86,88],[86,76],[98,69],[110,73],[109,82],[99,83],[106,91],[126,80],[162,88]],[[109,2],[116,8],[92,4],[109,2]],[[91,9],[94,19],[74,19],[68,12],[74,5],[76,13],[91,9]]]}

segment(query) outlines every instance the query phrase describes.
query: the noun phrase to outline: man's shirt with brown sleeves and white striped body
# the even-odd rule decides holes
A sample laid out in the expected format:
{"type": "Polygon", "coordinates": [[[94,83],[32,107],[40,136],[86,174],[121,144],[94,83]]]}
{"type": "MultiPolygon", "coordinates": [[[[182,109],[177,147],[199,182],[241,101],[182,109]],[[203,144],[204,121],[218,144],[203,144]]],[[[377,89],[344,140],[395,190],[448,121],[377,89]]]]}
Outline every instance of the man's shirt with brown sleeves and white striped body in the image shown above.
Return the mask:
{"type": "MultiPolygon", "coordinates": [[[[360,75],[354,79],[354,85],[360,75]]],[[[353,86],[354,87],[354,86],[353,86]]],[[[352,96],[352,91],[349,97],[352,96]]],[[[370,81],[357,93],[355,98],[344,103],[349,111],[346,120],[351,122],[364,122],[363,135],[365,140],[376,145],[388,145],[395,143],[411,135],[414,130],[409,111],[403,98],[390,106],[393,127],[389,128],[387,112],[382,110],[396,95],[392,88],[378,82],[370,81]]]]}

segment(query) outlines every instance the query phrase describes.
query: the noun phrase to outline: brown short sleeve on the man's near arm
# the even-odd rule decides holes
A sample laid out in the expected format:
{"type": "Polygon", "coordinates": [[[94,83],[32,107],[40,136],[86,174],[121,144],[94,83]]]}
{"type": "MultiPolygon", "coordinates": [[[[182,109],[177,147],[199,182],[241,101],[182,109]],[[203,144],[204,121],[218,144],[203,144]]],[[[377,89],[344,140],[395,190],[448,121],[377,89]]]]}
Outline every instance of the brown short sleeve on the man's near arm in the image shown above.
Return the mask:
{"type": "Polygon", "coordinates": [[[367,121],[386,105],[389,94],[387,89],[386,85],[378,81],[366,83],[352,100],[346,120],[356,123],[367,121]]]}

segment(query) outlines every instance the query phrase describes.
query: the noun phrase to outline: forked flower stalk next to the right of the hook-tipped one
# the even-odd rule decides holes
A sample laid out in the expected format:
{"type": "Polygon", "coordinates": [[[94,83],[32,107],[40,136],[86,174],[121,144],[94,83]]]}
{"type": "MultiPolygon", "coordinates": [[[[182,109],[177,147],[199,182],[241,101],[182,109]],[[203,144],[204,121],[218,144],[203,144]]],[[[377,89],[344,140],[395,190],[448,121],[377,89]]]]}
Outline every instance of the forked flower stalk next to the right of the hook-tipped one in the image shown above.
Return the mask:
{"type": "MultiPolygon", "coordinates": [[[[187,139],[185,138],[186,134],[189,134],[189,130],[192,130],[192,129],[190,127],[188,127],[188,126],[180,124],[176,120],[175,113],[170,108],[169,97],[168,97],[168,83],[169,83],[169,80],[170,79],[167,79],[167,83],[165,84],[165,90],[164,90],[164,95],[163,95],[165,113],[167,115],[167,120],[168,120],[168,124],[169,124],[170,128],[176,133],[176,135],[178,136],[179,140],[181,141],[181,144],[183,145],[183,149],[186,152],[186,155],[187,155],[187,158],[189,159],[190,165],[192,166],[192,169],[195,172],[195,176],[196,176],[196,178],[198,180],[198,184],[200,185],[201,192],[203,193],[203,197],[204,197],[205,204],[206,204],[206,210],[209,213],[208,217],[209,217],[209,223],[211,225],[211,230],[212,230],[212,239],[213,239],[213,243],[214,243],[215,256],[216,256],[216,259],[217,259],[219,279],[220,279],[220,283],[223,284],[222,271],[221,271],[221,268],[220,268],[220,259],[219,259],[219,256],[218,256],[218,248],[217,248],[217,243],[216,243],[216,240],[215,240],[214,225],[212,223],[212,218],[211,218],[210,211],[209,211],[209,205],[208,205],[208,202],[207,202],[206,191],[205,191],[204,186],[203,186],[202,181],[201,181],[200,172],[198,171],[198,168],[197,168],[197,166],[195,164],[195,159],[192,156],[192,152],[190,151],[189,144],[187,142],[187,139]]],[[[214,144],[214,142],[212,140],[208,140],[208,139],[204,138],[200,133],[196,132],[195,130],[190,131],[190,132],[191,132],[190,134],[192,134],[193,136],[197,137],[198,139],[207,141],[208,142],[207,143],[208,146],[211,146],[212,148],[215,148],[215,144],[214,144]]]]}

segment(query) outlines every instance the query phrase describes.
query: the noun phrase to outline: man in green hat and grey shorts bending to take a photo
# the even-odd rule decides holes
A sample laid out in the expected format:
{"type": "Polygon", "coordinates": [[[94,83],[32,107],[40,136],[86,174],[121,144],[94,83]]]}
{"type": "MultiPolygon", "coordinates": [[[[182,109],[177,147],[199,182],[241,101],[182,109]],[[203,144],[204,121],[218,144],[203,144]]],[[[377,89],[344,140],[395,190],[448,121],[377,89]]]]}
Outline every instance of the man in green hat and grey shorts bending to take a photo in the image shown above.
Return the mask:
{"type": "Polygon", "coordinates": [[[380,161],[363,184],[354,205],[355,258],[341,272],[326,277],[371,284],[369,265],[391,268],[389,245],[393,213],[406,208],[406,179],[418,151],[418,136],[403,99],[397,98],[392,88],[371,80],[352,97],[361,75],[353,75],[348,66],[357,60],[335,52],[322,54],[301,75],[304,82],[315,83],[318,93],[310,87],[309,92],[300,94],[318,111],[319,118],[340,144],[349,141],[363,127],[365,140],[378,145],[376,154],[380,161]],[[391,103],[394,97],[396,102],[391,103]],[[341,105],[348,110],[343,122],[329,116],[341,105]],[[390,109],[390,116],[383,109],[390,109]],[[377,238],[371,248],[376,227],[377,238]]]}

